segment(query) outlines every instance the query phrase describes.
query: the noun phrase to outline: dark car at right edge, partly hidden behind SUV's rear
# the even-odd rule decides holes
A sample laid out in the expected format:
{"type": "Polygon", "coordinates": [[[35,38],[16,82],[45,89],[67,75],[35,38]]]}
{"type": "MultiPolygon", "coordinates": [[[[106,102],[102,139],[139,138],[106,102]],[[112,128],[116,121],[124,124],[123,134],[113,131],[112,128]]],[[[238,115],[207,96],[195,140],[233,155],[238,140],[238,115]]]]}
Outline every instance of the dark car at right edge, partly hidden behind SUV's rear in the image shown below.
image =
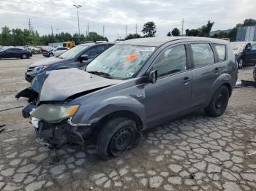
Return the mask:
{"type": "Polygon", "coordinates": [[[256,42],[231,42],[230,46],[236,55],[239,69],[248,63],[256,63],[256,42]]]}

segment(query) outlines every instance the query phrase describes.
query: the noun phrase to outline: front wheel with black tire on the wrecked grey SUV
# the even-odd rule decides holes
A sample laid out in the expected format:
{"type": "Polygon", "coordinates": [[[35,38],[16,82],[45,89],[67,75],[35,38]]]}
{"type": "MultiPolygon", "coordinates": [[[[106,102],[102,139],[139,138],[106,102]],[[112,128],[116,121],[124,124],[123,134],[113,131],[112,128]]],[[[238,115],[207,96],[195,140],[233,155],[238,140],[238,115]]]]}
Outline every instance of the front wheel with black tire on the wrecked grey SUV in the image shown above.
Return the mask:
{"type": "Polygon", "coordinates": [[[134,120],[116,117],[109,120],[99,132],[97,152],[102,159],[118,157],[138,144],[140,134],[134,120]]]}

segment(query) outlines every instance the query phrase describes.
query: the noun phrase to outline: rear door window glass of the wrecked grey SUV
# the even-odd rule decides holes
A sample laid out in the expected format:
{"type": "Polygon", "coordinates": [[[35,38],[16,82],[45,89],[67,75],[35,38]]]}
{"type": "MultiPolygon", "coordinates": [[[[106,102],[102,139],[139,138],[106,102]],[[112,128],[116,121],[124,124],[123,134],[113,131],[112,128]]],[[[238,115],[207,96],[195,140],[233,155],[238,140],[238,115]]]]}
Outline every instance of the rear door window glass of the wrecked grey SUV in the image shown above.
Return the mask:
{"type": "Polygon", "coordinates": [[[214,52],[211,50],[210,44],[191,44],[191,48],[194,58],[194,68],[214,63],[214,52]]]}

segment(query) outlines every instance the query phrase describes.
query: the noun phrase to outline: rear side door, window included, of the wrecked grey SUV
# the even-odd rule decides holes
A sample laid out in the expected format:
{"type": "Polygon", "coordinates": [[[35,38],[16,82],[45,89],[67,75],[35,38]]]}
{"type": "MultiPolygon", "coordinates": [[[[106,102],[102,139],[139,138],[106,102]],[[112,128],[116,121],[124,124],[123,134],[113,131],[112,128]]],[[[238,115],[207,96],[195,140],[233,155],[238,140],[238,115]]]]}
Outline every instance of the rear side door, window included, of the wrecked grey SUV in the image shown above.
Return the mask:
{"type": "Polygon", "coordinates": [[[220,65],[209,42],[189,44],[192,56],[192,109],[205,106],[211,87],[220,75],[220,65]]]}

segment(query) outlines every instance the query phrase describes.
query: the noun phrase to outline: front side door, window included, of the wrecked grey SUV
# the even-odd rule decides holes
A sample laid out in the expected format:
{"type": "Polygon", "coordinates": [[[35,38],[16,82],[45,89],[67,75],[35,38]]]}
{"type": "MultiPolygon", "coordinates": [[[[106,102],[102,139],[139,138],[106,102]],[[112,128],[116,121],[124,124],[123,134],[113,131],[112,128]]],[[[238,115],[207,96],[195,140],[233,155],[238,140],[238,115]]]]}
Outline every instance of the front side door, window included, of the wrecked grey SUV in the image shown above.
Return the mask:
{"type": "Polygon", "coordinates": [[[189,109],[192,91],[192,71],[187,70],[184,44],[162,50],[152,69],[157,70],[157,82],[145,86],[147,126],[171,119],[189,109]]]}

